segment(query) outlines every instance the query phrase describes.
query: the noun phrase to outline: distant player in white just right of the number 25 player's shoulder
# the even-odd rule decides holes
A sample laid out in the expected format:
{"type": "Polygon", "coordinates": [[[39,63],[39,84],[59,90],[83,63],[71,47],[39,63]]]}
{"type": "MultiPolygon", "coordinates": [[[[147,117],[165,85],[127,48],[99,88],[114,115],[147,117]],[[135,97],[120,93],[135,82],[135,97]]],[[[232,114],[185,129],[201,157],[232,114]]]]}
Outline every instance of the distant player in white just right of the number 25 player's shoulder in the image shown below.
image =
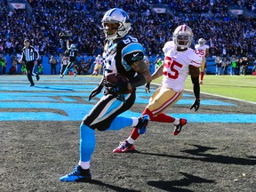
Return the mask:
{"type": "Polygon", "coordinates": [[[200,83],[203,84],[203,79],[204,79],[204,68],[205,68],[205,62],[206,58],[209,57],[209,45],[205,44],[205,39],[200,38],[198,40],[198,44],[196,44],[195,49],[196,52],[199,52],[199,54],[203,57],[202,65],[200,67],[200,83]]]}

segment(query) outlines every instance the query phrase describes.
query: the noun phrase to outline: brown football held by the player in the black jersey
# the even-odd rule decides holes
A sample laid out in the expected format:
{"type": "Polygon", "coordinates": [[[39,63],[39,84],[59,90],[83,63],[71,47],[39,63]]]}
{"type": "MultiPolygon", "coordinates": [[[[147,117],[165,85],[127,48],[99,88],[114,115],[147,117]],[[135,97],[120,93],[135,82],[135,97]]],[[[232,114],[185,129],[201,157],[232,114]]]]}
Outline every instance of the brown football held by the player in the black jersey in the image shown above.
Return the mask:
{"type": "Polygon", "coordinates": [[[115,84],[116,86],[122,88],[124,92],[120,93],[131,93],[132,85],[129,83],[129,79],[120,73],[109,73],[106,76],[106,81],[111,84],[115,84]]]}

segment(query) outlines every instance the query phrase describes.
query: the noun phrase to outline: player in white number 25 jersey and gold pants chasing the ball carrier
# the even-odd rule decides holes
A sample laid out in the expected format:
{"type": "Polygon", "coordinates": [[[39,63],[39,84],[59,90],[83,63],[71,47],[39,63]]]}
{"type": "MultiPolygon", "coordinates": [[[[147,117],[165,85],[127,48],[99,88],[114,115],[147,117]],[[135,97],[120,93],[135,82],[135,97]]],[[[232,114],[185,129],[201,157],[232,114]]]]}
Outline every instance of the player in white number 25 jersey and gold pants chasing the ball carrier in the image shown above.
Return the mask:
{"type": "MultiPolygon", "coordinates": [[[[164,110],[180,100],[188,74],[190,74],[194,84],[194,94],[196,97],[190,109],[193,108],[196,111],[200,105],[199,68],[202,63],[202,56],[189,48],[192,41],[193,33],[191,28],[187,25],[181,25],[175,29],[173,41],[164,44],[164,64],[157,68],[156,72],[152,75],[152,80],[163,76],[163,82],[156,92],[153,93],[148,106],[142,112],[143,115],[149,116],[150,121],[173,124],[174,135],[180,133],[182,126],[187,124],[187,120],[168,116],[164,113],[164,110]]],[[[124,153],[134,150],[133,143],[140,134],[141,132],[134,128],[130,137],[124,140],[113,152],[124,153]]]]}

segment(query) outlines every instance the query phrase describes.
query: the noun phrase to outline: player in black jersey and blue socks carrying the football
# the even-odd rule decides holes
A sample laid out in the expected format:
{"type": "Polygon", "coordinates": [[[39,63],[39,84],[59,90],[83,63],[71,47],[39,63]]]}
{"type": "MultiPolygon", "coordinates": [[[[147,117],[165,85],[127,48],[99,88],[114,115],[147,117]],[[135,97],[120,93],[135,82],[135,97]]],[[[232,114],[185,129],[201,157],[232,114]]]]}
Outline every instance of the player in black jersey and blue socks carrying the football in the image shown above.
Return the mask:
{"type": "Polygon", "coordinates": [[[145,132],[148,116],[119,116],[132,107],[135,101],[136,87],[148,83],[151,74],[145,64],[144,49],[137,38],[130,36],[131,21],[126,12],[114,8],[105,13],[102,29],[106,36],[104,48],[104,76],[100,84],[91,92],[89,100],[99,94],[105,86],[104,94],[91,112],[84,116],[80,126],[80,161],[74,172],[60,178],[60,181],[88,181],[92,179],[89,170],[92,153],[95,148],[95,130],[120,130],[127,126],[145,132]],[[106,76],[119,73],[129,79],[126,86],[108,84],[106,76]],[[131,93],[123,93],[132,86],[131,93]]]}

